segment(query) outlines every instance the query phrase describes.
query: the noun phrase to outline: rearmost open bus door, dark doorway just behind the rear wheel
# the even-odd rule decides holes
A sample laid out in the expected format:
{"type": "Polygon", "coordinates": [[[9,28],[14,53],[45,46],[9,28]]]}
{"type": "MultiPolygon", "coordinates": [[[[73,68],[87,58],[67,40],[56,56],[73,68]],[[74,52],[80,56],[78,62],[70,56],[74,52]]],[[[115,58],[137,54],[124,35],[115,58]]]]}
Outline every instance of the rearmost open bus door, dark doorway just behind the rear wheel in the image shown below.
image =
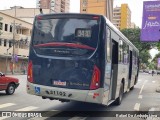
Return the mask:
{"type": "Polygon", "coordinates": [[[114,100],[116,96],[117,73],[118,73],[118,43],[112,40],[111,79],[110,79],[111,82],[110,82],[109,100],[114,100]]]}

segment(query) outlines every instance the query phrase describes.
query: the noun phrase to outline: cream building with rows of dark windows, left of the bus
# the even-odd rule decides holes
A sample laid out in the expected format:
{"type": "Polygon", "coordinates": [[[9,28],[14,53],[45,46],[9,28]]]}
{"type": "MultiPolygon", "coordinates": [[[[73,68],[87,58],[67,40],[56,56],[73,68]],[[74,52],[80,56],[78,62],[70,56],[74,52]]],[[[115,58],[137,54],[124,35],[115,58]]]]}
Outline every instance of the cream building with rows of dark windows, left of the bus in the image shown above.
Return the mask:
{"type": "Polygon", "coordinates": [[[0,71],[27,69],[32,24],[0,12],[0,71]]]}

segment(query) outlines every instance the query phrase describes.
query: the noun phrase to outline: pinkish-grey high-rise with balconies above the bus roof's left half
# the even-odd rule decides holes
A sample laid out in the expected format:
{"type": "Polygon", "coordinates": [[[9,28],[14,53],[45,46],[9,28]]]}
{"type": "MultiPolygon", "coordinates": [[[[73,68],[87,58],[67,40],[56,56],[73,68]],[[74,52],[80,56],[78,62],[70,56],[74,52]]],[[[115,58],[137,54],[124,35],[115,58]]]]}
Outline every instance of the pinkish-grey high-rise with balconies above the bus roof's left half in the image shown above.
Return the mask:
{"type": "Polygon", "coordinates": [[[70,0],[37,0],[37,8],[50,9],[51,13],[69,12],[70,0]]]}

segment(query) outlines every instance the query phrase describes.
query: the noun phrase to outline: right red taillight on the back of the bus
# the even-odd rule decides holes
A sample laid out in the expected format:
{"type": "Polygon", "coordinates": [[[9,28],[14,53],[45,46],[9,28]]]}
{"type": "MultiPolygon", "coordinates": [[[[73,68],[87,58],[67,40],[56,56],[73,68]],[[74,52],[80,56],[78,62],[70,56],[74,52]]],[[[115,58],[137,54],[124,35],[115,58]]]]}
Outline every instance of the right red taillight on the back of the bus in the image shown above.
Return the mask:
{"type": "Polygon", "coordinates": [[[99,88],[100,86],[100,70],[99,68],[95,65],[94,70],[93,70],[93,75],[92,75],[92,81],[90,85],[90,90],[95,90],[99,88]]]}

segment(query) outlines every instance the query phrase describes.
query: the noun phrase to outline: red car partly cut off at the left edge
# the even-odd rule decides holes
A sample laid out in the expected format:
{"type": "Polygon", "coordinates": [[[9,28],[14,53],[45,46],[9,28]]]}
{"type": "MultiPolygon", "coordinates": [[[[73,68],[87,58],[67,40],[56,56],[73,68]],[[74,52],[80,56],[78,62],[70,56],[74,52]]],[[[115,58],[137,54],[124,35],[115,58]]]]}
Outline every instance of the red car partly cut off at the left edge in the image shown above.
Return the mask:
{"type": "Polygon", "coordinates": [[[5,90],[6,94],[12,95],[18,86],[17,78],[6,77],[4,73],[0,72],[0,91],[5,90]]]}

